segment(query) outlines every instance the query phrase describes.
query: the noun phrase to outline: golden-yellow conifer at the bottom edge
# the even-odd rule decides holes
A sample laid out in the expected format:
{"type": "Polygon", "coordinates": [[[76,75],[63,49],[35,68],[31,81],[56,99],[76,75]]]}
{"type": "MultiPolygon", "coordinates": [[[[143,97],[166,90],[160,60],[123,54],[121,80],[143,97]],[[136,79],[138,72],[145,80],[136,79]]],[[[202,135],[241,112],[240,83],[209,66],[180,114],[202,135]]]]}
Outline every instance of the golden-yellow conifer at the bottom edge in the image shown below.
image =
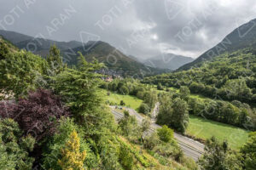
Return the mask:
{"type": "Polygon", "coordinates": [[[63,170],[84,170],[85,156],[85,150],[80,151],[78,133],[73,131],[65,147],[61,149],[61,160],[58,163],[63,170]]]}

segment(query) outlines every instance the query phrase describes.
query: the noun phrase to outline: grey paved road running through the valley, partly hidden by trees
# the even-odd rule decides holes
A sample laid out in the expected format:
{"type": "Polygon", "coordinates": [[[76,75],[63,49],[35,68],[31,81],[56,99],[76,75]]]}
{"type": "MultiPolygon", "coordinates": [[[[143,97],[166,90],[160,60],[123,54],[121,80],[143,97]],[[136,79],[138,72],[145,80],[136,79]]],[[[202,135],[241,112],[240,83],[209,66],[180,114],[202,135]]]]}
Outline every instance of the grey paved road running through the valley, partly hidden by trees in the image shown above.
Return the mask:
{"type": "MultiPolygon", "coordinates": [[[[119,113],[118,111],[113,111],[115,106],[110,106],[112,108],[112,113],[115,119],[120,119],[124,115],[122,113],[119,113]]],[[[143,116],[137,113],[137,111],[134,111],[130,108],[126,108],[126,110],[129,111],[130,115],[136,116],[137,122],[141,123],[143,122],[143,116]]],[[[148,133],[154,133],[154,131],[160,128],[159,125],[155,124],[154,121],[152,121],[152,124],[148,130],[148,133]]],[[[181,134],[174,133],[174,138],[177,139],[177,143],[182,148],[185,156],[193,158],[195,161],[198,160],[198,158],[202,155],[204,151],[204,144],[201,144],[198,141],[195,141],[193,139],[189,139],[181,134]]]]}

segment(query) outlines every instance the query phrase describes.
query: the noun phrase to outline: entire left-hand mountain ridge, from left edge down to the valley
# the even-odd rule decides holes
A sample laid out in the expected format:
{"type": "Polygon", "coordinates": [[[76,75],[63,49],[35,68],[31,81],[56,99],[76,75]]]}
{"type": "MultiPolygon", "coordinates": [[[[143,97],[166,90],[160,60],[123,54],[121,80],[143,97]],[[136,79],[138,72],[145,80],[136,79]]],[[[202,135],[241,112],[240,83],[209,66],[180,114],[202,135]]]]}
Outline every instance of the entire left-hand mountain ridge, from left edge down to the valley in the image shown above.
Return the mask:
{"type": "Polygon", "coordinates": [[[144,77],[166,72],[164,69],[143,65],[135,57],[126,56],[107,42],[57,42],[29,37],[14,31],[0,31],[0,35],[15,44],[16,47],[25,48],[27,51],[32,51],[32,53],[39,54],[42,57],[46,57],[50,46],[55,44],[61,50],[63,59],[68,65],[77,65],[78,52],[81,52],[88,61],[92,61],[93,58],[98,59],[108,69],[117,71],[122,76],[144,77]]]}

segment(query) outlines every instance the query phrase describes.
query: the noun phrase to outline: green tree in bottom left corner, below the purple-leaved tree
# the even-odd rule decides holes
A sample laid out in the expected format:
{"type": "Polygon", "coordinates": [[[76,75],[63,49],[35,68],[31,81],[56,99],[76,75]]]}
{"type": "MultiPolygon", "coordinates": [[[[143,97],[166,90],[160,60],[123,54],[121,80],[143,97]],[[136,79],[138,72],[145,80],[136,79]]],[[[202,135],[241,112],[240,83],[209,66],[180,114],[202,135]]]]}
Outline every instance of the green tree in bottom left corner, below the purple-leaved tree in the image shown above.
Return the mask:
{"type": "Polygon", "coordinates": [[[0,169],[32,170],[34,159],[29,156],[35,139],[23,137],[17,122],[0,119],[0,169]]]}

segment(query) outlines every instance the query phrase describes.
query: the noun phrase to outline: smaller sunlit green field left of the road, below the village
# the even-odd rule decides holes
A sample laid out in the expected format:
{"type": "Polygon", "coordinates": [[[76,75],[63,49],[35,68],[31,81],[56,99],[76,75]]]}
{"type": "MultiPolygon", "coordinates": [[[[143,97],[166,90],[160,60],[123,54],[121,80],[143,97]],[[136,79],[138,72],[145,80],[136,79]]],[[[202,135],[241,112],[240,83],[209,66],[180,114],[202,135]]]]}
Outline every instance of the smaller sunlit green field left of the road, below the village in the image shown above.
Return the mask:
{"type": "Polygon", "coordinates": [[[113,105],[119,105],[120,100],[123,100],[125,102],[125,106],[131,107],[134,110],[138,110],[139,106],[143,103],[142,99],[138,99],[136,96],[131,95],[122,95],[122,94],[115,94],[113,92],[110,92],[110,95],[106,95],[108,93],[107,90],[102,90],[102,93],[105,93],[104,96],[106,97],[106,100],[108,100],[113,105]]]}

